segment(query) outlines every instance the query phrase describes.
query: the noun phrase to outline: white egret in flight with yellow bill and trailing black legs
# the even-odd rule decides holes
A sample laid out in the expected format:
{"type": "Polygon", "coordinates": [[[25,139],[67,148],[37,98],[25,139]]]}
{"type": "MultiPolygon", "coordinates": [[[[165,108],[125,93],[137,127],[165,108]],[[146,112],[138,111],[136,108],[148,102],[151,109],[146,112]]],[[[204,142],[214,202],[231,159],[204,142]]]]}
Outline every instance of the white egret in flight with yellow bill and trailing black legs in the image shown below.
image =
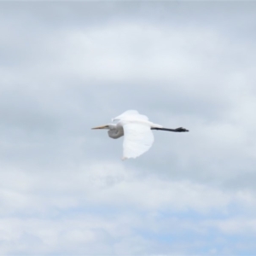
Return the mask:
{"type": "Polygon", "coordinates": [[[107,129],[108,136],[113,139],[124,137],[123,158],[137,158],[137,156],[145,153],[154,143],[154,135],[151,130],[160,131],[189,131],[183,127],[177,129],[163,128],[162,125],[154,124],[148,121],[146,115],[140,114],[137,110],[127,110],[112,119],[112,124],[97,126],[91,129],[107,129]]]}

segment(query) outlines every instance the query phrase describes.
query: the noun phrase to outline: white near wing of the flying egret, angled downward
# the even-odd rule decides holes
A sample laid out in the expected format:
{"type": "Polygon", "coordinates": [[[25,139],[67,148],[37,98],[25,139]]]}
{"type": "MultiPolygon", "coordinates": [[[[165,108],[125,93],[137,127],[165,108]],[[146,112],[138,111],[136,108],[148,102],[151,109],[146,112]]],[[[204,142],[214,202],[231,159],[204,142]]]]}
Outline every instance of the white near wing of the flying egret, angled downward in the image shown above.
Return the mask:
{"type": "Polygon", "coordinates": [[[123,125],[125,138],[123,143],[123,159],[136,158],[151,148],[154,143],[153,132],[149,125],[127,123],[123,125]]]}

